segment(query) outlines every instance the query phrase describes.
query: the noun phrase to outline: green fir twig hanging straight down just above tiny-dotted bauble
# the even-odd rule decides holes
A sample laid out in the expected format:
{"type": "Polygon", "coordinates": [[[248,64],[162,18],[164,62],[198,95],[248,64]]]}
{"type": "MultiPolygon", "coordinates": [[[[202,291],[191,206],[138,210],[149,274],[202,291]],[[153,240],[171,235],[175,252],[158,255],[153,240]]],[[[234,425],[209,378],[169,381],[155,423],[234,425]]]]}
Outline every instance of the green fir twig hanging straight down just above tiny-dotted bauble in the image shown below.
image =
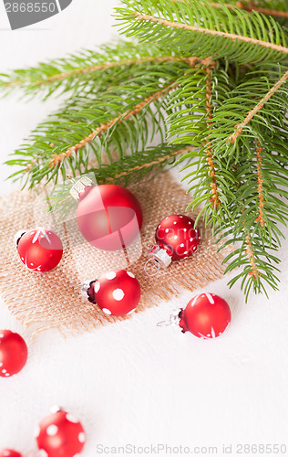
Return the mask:
{"type": "Polygon", "coordinates": [[[214,156],[211,136],[213,111],[224,100],[229,78],[214,62],[199,70],[199,76],[197,80],[191,77],[181,80],[180,88],[170,100],[173,112],[166,122],[169,135],[174,136],[171,143],[198,146],[197,152],[189,152],[180,158],[193,159],[183,168],[188,170],[183,179],[193,184],[189,189],[193,191],[190,207],[194,209],[203,204],[199,215],[204,215],[205,224],[211,223],[214,229],[216,222],[221,220],[222,211],[229,214],[227,201],[231,198],[230,187],[234,180],[231,170],[223,169],[221,157],[214,156]]]}

